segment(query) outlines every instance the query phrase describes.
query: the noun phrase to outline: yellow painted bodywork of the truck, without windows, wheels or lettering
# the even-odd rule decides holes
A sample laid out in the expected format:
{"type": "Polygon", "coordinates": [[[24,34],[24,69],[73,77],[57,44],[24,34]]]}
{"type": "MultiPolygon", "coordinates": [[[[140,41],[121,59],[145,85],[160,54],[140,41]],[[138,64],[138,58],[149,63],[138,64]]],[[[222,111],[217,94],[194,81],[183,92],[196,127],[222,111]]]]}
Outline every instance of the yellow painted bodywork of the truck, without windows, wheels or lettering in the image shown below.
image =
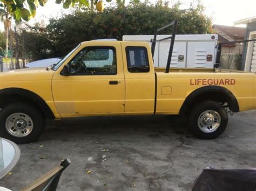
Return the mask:
{"type": "Polygon", "coordinates": [[[192,91],[204,86],[191,85],[196,79],[234,79],[235,84],[220,85],[237,98],[240,111],[256,109],[256,75],[231,70],[154,68],[150,46],[142,42],[87,41],[82,43],[56,71],[19,69],[0,73],[0,89],[22,88],[43,98],[56,118],[144,115],[154,113],[155,72],[157,76],[156,114],[178,114],[181,105],[192,91]],[[112,46],[116,48],[116,75],[60,75],[64,65],[87,46],[112,46]],[[126,46],[147,48],[149,73],[129,73],[126,63],[126,46]],[[118,81],[110,85],[109,81],[118,81]]]}

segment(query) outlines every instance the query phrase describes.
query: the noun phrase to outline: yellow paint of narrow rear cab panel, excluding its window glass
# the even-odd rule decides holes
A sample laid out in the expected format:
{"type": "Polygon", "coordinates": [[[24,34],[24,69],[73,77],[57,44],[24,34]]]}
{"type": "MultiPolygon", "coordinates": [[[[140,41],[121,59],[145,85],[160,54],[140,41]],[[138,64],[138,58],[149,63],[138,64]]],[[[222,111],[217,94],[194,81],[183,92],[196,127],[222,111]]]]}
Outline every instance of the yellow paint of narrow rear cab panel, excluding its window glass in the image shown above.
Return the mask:
{"type": "Polygon", "coordinates": [[[122,42],[125,75],[125,114],[153,114],[155,77],[150,47],[147,43],[122,42]],[[149,54],[149,73],[130,73],[126,62],[127,46],[147,47],[149,54]]]}

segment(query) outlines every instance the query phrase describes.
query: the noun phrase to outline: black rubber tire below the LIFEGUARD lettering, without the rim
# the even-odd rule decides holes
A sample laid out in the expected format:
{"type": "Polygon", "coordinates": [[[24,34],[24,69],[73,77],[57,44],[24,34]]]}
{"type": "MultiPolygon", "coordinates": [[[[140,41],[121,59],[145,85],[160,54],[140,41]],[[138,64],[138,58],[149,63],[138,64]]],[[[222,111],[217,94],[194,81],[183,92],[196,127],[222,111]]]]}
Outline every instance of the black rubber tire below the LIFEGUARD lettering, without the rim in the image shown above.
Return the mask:
{"type": "MultiPolygon", "coordinates": [[[[215,118],[214,118],[214,121],[215,121],[215,118]]],[[[198,105],[196,105],[188,115],[188,121],[187,121],[188,129],[193,133],[194,136],[200,139],[214,139],[219,137],[221,133],[225,131],[227,127],[227,123],[228,123],[228,117],[227,117],[227,112],[225,108],[222,105],[220,105],[218,102],[214,102],[214,101],[205,101],[203,103],[199,103],[198,105]],[[201,114],[203,114],[203,112],[207,114],[206,111],[208,110],[215,111],[219,114],[220,124],[219,126],[216,125],[218,126],[218,128],[213,128],[215,129],[214,131],[211,129],[211,125],[208,127],[207,124],[203,124],[201,126],[202,127],[207,126],[207,129],[209,131],[209,132],[204,132],[204,131],[207,131],[207,129],[206,130],[200,129],[199,127],[200,122],[198,124],[198,121],[199,121],[199,117],[202,118],[201,114]],[[210,132],[211,130],[212,132],[210,132]]]]}

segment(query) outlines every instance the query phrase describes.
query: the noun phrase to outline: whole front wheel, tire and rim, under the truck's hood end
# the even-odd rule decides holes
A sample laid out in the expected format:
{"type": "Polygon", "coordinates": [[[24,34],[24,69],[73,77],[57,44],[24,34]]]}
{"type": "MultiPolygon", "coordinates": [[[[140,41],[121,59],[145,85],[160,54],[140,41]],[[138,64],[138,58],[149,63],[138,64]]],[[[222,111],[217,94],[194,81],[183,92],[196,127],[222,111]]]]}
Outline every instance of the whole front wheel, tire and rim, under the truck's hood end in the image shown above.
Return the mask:
{"type": "Polygon", "coordinates": [[[0,136],[15,143],[30,143],[43,132],[45,119],[34,106],[12,103],[0,110],[0,136]]]}

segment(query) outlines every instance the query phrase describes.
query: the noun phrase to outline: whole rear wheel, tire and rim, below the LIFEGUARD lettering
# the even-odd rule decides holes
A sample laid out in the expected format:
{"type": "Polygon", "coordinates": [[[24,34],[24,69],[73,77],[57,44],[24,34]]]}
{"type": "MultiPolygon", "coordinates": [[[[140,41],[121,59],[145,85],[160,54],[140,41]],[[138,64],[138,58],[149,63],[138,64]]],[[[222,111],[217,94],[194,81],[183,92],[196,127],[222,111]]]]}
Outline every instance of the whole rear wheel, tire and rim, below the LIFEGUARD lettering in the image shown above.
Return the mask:
{"type": "Polygon", "coordinates": [[[188,128],[201,139],[214,139],[227,127],[225,108],[218,102],[205,101],[194,107],[188,116],[188,128]]]}

